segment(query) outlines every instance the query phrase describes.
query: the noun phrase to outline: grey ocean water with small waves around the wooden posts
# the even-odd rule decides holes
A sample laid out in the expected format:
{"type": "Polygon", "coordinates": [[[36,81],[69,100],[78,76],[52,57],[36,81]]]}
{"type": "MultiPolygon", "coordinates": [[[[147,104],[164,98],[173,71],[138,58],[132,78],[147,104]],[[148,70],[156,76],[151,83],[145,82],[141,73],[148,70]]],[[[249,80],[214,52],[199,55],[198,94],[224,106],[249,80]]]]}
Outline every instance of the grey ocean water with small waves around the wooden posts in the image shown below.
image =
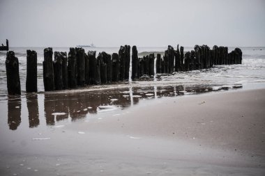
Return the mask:
{"type": "MultiPolygon", "coordinates": [[[[38,91],[44,91],[43,86],[43,49],[44,47],[11,47],[20,62],[20,83],[22,94],[26,90],[27,76],[27,49],[33,49],[38,54],[38,91]]],[[[84,48],[85,51],[105,51],[108,54],[118,53],[119,47],[84,48]]],[[[163,53],[167,47],[137,47],[138,56],[144,56],[152,52],[163,53]]],[[[234,47],[229,47],[232,51],[234,47]]],[[[176,72],[167,75],[155,75],[153,79],[141,81],[120,82],[119,86],[232,86],[242,84],[243,88],[259,88],[265,84],[265,47],[241,47],[243,52],[242,65],[217,65],[207,70],[195,70],[191,72],[176,72]]],[[[192,47],[184,47],[184,51],[190,51],[192,47]]],[[[69,51],[69,47],[53,47],[53,51],[69,51]]],[[[6,86],[6,51],[0,51],[0,96],[7,95],[6,86]]],[[[94,86],[98,88],[98,86],[94,86]]],[[[102,86],[103,88],[115,88],[116,83],[102,86]]],[[[93,90],[93,86],[89,86],[93,90]]]]}

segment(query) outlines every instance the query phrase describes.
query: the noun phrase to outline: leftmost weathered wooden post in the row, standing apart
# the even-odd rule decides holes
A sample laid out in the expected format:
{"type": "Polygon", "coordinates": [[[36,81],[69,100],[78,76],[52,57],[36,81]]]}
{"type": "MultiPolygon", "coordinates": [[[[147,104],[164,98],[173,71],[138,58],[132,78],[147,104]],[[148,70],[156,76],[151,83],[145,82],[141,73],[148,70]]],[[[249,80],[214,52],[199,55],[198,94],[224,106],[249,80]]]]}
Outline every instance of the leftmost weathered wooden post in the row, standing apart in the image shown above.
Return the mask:
{"type": "Polygon", "coordinates": [[[8,95],[21,95],[19,62],[14,51],[6,53],[8,95]]]}

